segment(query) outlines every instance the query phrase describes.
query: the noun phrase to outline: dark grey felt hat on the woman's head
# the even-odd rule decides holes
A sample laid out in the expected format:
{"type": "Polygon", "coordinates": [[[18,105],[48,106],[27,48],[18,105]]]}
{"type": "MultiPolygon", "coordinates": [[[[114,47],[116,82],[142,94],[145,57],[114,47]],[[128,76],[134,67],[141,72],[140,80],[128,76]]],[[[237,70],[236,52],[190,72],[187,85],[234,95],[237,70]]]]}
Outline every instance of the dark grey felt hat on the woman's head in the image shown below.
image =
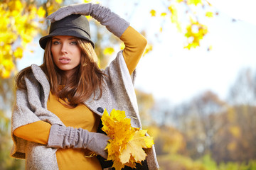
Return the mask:
{"type": "Polygon", "coordinates": [[[45,49],[49,38],[56,35],[69,35],[82,38],[91,42],[92,47],[95,47],[95,44],[90,39],[89,22],[85,16],[79,14],[66,16],[60,21],[50,23],[49,35],[46,35],[39,40],[40,46],[45,49]]]}

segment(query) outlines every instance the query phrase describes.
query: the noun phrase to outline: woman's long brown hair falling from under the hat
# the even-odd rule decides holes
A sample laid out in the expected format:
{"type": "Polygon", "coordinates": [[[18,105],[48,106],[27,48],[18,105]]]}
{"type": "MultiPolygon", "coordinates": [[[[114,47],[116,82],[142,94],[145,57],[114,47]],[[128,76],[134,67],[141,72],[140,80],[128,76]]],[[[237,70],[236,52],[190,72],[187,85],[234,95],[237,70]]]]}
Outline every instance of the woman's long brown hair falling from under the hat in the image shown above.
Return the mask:
{"type": "MultiPolygon", "coordinates": [[[[72,77],[66,79],[63,71],[53,62],[51,53],[51,40],[48,40],[43,56],[43,64],[40,66],[45,72],[50,84],[50,91],[58,99],[65,101],[65,106],[75,108],[78,104],[86,101],[92,95],[94,99],[102,96],[103,79],[106,76],[97,66],[97,55],[90,42],[78,39],[78,46],[81,50],[81,62],[76,67],[72,77]],[[100,94],[97,94],[100,90],[100,94]]],[[[31,67],[27,67],[16,76],[16,86],[20,89],[26,89],[24,77],[31,73],[31,67]]]]}

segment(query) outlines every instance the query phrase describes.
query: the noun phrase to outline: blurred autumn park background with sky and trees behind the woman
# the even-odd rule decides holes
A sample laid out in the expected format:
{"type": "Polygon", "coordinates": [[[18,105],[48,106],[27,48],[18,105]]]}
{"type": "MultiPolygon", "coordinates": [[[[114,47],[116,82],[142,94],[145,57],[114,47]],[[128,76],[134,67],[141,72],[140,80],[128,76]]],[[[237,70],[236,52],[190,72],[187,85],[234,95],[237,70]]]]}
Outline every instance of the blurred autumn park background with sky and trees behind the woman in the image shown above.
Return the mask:
{"type": "MultiPolygon", "coordinates": [[[[0,1],[0,169],[9,156],[15,74],[41,64],[46,16],[83,1],[0,1]]],[[[90,1],[85,1],[90,2],[90,1]]],[[[162,170],[256,169],[256,13],[252,0],[102,0],[148,45],[135,82],[162,170]]],[[[124,47],[89,18],[100,67],[124,47]]]]}

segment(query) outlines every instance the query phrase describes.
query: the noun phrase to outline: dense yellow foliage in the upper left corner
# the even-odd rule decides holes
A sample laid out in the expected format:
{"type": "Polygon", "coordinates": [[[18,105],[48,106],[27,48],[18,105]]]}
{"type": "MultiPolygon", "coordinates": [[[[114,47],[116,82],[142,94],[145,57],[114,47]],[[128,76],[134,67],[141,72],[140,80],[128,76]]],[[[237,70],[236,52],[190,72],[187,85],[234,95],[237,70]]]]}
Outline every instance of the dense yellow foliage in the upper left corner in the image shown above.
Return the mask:
{"type": "Polygon", "coordinates": [[[43,18],[45,14],[46,11],[42,7],[37,8],[34,4],[26,4],[26,1],[14,0],[0,3],[1,78],[9,78],[16,70],[15,61],[23,56],[26,45],[33,40],[39,30],[38,19],[43,18]]]}

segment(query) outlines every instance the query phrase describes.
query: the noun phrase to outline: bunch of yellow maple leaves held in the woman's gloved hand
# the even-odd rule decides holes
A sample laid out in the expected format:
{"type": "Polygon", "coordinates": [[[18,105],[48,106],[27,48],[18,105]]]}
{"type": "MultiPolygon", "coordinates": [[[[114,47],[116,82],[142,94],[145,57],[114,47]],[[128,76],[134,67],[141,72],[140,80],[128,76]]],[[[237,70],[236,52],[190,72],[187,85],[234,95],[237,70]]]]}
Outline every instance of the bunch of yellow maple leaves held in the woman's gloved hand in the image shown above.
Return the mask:
{"type": "Polygon", "coordinates": [[[147,130],[133,128],[131,120],[126,118],[124,111],[112,110],[110,115],[105,110],[102,115],[102,130],[111,139],[107,149],[107,160],[112,160],[116,170],[124,166],[136,167],[146,159],[144,149],[154,144],[153,137],[146,136],[147,130]]]}

